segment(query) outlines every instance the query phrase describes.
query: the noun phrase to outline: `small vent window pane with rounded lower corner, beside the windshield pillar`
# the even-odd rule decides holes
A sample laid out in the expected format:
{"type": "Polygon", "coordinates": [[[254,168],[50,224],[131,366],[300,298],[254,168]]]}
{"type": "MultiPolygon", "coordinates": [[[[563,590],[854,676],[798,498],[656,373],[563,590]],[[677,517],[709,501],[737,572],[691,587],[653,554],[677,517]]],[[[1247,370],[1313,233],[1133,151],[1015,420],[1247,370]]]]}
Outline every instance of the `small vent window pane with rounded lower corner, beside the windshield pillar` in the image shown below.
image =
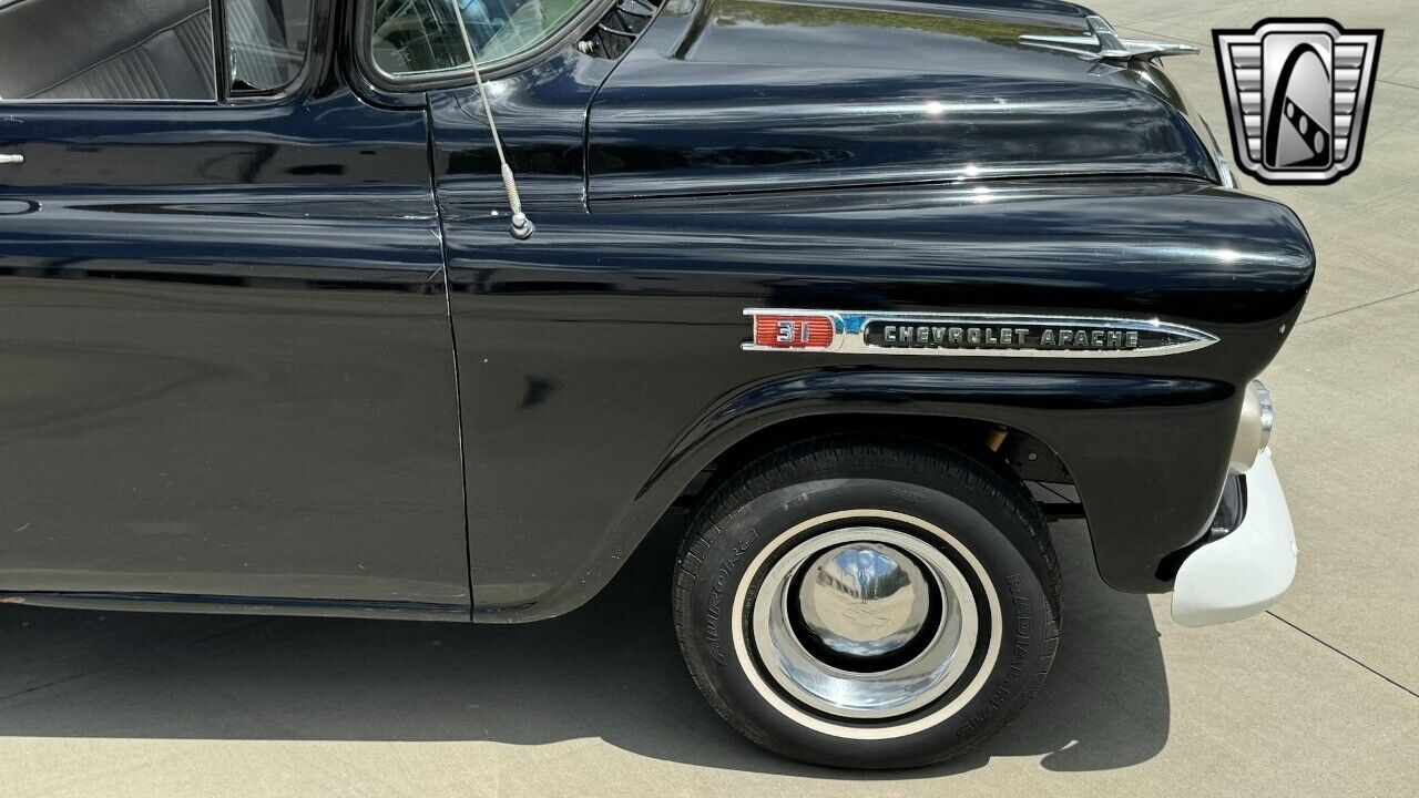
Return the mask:
{"type": "Polygon", "coordinates": [[[231,97],[291,85],[311,44],[311,0],[221,0],[231,97]]]}

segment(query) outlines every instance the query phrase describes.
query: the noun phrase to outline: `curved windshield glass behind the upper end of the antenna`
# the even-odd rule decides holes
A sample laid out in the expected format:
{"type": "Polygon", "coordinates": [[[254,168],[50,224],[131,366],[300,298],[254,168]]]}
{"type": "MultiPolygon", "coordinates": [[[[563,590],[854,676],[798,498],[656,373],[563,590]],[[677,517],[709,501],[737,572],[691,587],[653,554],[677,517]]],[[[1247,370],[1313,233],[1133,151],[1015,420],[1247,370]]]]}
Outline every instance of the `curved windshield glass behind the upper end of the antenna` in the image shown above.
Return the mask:
{"type": "Polygon", "coordinates": [[[375,0],[370,48],[387,75],[467,68],[455,10],[484,68],[538,47],[592,0],[375,0]]]}

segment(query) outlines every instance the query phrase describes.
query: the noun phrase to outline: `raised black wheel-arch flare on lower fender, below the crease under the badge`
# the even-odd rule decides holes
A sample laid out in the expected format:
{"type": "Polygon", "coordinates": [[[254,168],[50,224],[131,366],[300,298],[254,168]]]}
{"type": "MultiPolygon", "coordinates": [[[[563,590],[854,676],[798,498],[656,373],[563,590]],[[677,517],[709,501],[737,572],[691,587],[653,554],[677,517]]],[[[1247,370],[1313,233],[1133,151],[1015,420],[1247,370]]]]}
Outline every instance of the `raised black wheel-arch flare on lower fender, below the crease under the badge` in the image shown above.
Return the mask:
{"type": "Polygon", "coordinates": [[[769,427],[827,415],[969,419],[1040,439],[1076,480],[1101,576],[1122,591],[1166,591],[1155,575],[1159,559],[1196,538],[1222,490],[1239,412],[1235,393],[1203,379],[1070,372],[830,368],[765,381],[688,425],[626,514],[586,552],[580,579],[535,605],[505,608],[498,619],[531,621],[579,606],[616,575],[707,466],[769,427]]]}

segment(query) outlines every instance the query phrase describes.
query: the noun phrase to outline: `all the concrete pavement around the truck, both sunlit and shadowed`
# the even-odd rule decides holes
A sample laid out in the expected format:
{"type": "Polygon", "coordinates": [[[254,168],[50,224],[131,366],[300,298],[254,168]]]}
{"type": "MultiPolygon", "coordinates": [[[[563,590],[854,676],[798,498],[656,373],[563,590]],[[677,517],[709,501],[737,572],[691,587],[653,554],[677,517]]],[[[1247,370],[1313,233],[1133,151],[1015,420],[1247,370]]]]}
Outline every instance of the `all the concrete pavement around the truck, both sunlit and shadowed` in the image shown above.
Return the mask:
{"type": "MultiPolygon", "coordinates": [[[[1419,4],[1093,4],[1130,34],[1338,16],[1384,27],[1358,173],[1290,203],[1321,270],[1264,375],[1301,569],[1271,613],[1181,629],[1057,528],[1066,625],[1039,700],[964,761],[785,763],[685,674],[667,551],[521,628],[0,608],[0,797],[1419,795],[1419,4]],[[639,578],[637,578],[639,575],[639,578]]],[[[1225,129],[1210,47],[1169,72],[1225,129]]]]}

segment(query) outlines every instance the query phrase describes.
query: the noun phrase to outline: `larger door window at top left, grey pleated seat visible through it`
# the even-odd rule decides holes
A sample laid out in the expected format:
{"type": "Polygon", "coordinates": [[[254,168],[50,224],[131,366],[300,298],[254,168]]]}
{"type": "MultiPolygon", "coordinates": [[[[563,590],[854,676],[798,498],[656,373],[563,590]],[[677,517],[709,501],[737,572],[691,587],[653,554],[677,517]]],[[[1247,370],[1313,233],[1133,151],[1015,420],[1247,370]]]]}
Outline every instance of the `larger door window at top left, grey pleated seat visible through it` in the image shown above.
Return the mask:
{"type": "Polygon", "coordinates": [[[0,0],[6,99],[210,99],[209,0],[0,0]]]}

